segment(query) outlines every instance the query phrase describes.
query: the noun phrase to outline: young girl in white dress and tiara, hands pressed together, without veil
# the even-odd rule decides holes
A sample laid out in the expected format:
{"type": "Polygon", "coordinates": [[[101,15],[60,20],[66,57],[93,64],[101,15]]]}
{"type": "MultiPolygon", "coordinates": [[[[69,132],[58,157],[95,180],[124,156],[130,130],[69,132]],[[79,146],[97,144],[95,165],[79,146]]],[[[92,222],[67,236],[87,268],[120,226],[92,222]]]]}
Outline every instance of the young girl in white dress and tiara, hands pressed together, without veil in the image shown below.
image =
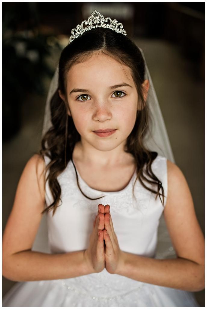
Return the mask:
{"type": "Polygon", "coordinates": [[[61,53],[51,127],[3,235],[3,275],[27,282],[3,306],[199,307],[204,236],[191,193],[179,167],[144,145],[144,59],[103,18],[94,11],[61,53]],[[51,254],[31,250],[45,213],[51,254]],[[162,213],[175,259],[155,258],[162,213]]]}

